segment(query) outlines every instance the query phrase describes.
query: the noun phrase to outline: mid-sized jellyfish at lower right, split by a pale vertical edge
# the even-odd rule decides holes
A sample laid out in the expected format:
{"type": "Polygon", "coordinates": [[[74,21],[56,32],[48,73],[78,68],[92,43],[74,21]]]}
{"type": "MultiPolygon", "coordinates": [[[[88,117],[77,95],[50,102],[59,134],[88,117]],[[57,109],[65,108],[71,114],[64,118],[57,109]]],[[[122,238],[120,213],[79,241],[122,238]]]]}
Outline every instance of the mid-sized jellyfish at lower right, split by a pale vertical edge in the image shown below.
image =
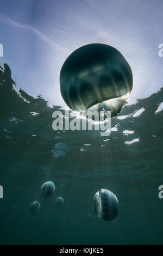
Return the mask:
{"type": "Polygon", "coordinates": [[[104,221],[114,220],[118,214],[119,204],[114,193],[102,189],[94,197],[94,210],[104,221]]]}

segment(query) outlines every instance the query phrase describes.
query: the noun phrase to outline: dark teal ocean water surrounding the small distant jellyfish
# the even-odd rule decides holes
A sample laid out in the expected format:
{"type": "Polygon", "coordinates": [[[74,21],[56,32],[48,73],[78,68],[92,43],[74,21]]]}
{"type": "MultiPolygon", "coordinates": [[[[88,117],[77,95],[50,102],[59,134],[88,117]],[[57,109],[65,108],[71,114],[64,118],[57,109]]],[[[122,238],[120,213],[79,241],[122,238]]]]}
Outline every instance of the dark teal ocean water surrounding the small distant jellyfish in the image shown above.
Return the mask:
{"type": "MultiPolygon", "coordinates": [[[[40,96],[14,90],[9,66],[0,70],[1,245],[153,245],[163,243],[163,88],[126,105],[111,120],[111,134],[54,131],[40,96]],[[55,184],[54,196],[41,186],[55,184]],[[93,210],[101,188],[116,194],[120,211],[104,222],[93,210]],[[61,196],[64,207],[55,206],[61,196]],[[31,215],[29,205],[41,203],[31,215]],[[87,220],[92,215],[92,221],[87,220]]],[[[161,86],[160,86],[161,87],[161,86]]]]}

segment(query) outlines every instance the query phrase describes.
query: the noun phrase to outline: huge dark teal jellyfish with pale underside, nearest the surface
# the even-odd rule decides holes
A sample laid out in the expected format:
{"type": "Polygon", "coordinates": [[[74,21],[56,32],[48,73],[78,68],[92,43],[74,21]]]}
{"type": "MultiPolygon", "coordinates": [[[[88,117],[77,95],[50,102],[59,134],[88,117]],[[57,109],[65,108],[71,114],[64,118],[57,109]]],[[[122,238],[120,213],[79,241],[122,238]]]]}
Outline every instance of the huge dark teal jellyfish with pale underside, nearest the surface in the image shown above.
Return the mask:
{"type": "Polygon", "coordinates": [[[72,52],[60,71],[60,91],[73,111],[121,112],[133,88],[127,60],[116,48],[89,44],[72,52]]]}

